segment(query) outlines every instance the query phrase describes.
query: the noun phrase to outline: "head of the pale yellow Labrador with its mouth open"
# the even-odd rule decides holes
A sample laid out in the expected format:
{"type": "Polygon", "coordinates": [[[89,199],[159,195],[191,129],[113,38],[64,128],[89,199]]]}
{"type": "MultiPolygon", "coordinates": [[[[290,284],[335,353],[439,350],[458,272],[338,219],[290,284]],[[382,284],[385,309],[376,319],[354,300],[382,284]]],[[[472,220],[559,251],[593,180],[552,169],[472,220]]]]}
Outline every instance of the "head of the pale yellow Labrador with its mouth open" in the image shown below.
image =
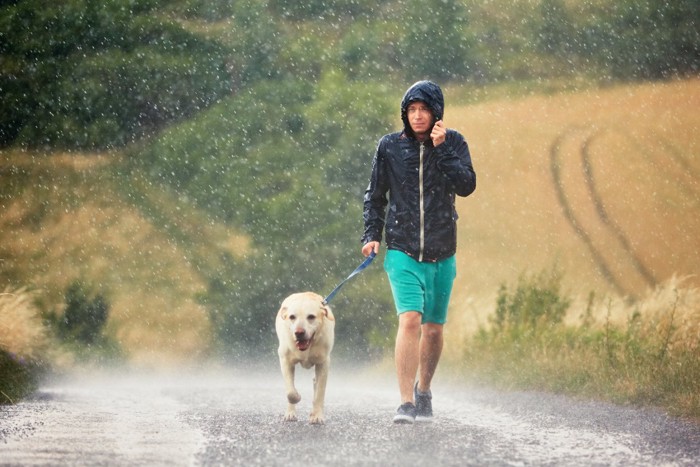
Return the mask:
{"type": "Polygon", "coordinates": [[[287,297],[278,316],[290,330],[296,348],[301,351],[311,347],[314,336],[321,331],[325,320],[333,320],[330,307],[323,304],[323,298],[310,292],[287,297]]]}

